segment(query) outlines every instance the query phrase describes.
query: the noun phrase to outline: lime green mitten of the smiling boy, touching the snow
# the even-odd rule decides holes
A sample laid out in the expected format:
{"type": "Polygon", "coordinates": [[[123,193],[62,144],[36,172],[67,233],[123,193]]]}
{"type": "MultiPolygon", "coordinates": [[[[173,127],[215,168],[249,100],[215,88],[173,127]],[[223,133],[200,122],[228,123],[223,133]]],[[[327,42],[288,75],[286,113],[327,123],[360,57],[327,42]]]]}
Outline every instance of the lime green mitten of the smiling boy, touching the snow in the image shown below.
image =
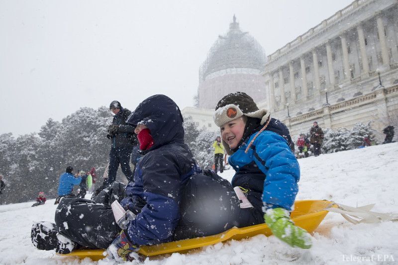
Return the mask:
{"type": "Polygon", "coordinates": [[[311,236],[292,222],[287,210],[268,209],[264,214],[264,220],[272,233],[290,246],[301,249],[309,249],[312,246],[311,236]]]}

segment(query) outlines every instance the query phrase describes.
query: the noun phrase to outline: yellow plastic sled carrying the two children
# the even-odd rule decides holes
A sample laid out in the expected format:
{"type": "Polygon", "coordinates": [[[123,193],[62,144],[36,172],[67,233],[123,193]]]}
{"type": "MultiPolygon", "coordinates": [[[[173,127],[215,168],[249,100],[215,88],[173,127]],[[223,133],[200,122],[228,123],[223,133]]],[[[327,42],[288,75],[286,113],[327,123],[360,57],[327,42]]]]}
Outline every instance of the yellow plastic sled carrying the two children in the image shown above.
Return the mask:
{"type": "MultiPolygon", "coordinates": [[[[325,209],[332,205],[333,202],[328,200],[298,200],[295,202],[295,209],[291,214],[291,218],[297,226],[305,229],[309,233],[312,233],[328,213],[325,209]]],[[[241,240],[260,234],[266,235],[267,237],[272,235],[267,224],[253,225],[243,228],[233,227],[223,233],[213,236],[173,241],[154,246],[142,246],[138,253],[148,257],[175,252],[185,253],[193,249],[213,245],[219,242],[225,242],[231,239],[241,240]]],[[[70,254],[59,254],[59,256],[73,256],[78,257],[79,259],[90,258],[93,261],[105,258],[104,255],[106,255],[105,250],[78,250],[70,254]]]]}

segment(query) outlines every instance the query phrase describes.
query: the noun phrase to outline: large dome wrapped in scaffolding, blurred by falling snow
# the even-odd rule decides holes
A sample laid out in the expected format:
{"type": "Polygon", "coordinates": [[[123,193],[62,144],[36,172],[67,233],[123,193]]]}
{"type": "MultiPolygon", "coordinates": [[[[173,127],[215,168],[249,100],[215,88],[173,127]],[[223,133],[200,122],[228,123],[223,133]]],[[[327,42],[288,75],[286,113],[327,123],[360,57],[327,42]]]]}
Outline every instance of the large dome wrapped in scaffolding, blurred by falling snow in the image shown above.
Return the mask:
{"type": "Polygon", "coordinates": [[[261,72],[266,56],[261,45],[239,28],[235,15],[229,31],[210,48],[199,69],[199,107],[214,108],[227,93],[242,91],[256,101],[265,99],[261,72]]]}

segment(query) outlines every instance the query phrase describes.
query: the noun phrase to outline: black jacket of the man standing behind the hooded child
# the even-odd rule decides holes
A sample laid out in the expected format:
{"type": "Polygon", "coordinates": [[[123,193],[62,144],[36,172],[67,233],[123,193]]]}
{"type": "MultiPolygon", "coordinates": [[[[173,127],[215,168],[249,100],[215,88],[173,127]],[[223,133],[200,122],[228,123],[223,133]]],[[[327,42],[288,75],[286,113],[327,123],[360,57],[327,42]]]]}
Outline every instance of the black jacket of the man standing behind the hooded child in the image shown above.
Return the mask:
{"type": "Polygon", "coordinates": [[[126,123],[130,114],[130,110],[121,107],[120,111],[113,116],[112,124],[119,125],[116,135],[111,138],[113,148],[132,147],[137,144],[134,127],[131,124],[126,123]]]}

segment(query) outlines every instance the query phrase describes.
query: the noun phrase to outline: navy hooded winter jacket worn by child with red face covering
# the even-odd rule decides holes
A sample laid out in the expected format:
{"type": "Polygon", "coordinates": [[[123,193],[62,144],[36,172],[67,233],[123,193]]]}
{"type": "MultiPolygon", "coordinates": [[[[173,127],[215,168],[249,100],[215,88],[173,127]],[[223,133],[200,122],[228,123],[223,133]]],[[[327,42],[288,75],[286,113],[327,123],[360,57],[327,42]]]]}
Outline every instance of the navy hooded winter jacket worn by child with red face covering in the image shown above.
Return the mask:
{"type": "Polygon", "coordinates": [[[200,173],[184,143],[183,117],[173,100],[154,95],[141,102],[127,122],[146,125],[154,139],[154,145],[143,152],[134,182],[127,185],[127,197],[121,201],[139,212],[128,225],[128,236],[138,245],[171,241],[180,219],[183,184],[200,173]]]}

